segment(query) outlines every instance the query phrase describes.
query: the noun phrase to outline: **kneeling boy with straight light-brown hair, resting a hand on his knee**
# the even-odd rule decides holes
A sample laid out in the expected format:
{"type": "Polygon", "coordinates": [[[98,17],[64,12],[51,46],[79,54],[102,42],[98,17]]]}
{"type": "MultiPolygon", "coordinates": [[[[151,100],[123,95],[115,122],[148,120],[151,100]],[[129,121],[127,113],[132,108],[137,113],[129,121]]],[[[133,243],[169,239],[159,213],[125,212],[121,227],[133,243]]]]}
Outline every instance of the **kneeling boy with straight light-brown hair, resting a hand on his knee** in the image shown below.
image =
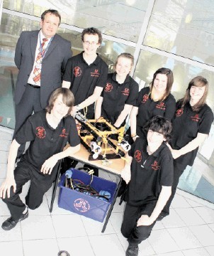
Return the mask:
{"type": "Polygon", "coordinates": [[[59,160],[79,150],[77,126],[73,117],[68,116],[73,105],[72,92],[58,88],[52,92],[46,111],[30,116],[13,139],[6,180],[0,187],[0,197],[11,212],[11,217],[1,225],[4,230],[11,230],[18,221],[27,218],[28,208],[34,210],[40,206],[55,180],[59,160]],[[13,171],[18,146],[26,142],[30,142],[30,146],[13,171]],[[71,146],[63,151],[67,142],[71,146]],[[18,195],[29,180],[24,204],[18,195]]]}

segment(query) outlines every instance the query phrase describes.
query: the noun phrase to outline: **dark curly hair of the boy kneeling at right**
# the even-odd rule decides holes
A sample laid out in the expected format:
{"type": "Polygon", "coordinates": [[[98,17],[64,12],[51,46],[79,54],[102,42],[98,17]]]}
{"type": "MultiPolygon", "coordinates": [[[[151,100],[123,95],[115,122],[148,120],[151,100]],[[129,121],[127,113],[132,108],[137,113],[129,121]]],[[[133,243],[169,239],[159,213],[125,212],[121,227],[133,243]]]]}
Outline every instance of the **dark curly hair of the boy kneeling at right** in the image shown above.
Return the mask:
{"type": "Polygon", "coordinates": [[[164,139],[167,142],[171,139],[171,122],[166,117],[155,116],[150,119],[144,127],[145,131],[152,130],[153,132],[159,132],[164,135],[164,139]]]}

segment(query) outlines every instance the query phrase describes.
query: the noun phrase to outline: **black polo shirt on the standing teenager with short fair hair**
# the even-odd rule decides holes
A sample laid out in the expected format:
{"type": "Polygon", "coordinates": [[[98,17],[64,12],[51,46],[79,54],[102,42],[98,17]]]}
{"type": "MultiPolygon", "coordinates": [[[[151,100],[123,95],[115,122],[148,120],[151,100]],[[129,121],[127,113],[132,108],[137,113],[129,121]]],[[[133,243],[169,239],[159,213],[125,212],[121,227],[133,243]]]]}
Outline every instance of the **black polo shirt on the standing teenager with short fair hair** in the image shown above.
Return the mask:
{"type": "Polygon", "coordinates": [[[106,87],[102,92],[103,104],[101,115],[112,124],[116,122],[125,104],[135,105],[139,86],[130,75],[127,75],[123,84],[116,81],[116,73],[108,74],[106,87]]]}

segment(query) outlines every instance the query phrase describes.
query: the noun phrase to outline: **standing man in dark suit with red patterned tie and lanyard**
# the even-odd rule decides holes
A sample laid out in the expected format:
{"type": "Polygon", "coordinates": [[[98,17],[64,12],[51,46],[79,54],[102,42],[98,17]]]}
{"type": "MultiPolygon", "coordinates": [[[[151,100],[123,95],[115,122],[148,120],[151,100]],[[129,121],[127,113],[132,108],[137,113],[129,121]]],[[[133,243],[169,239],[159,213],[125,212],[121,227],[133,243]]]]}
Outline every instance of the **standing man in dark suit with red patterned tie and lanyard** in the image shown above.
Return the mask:
{"type": "MultiPolygon", "coordinates": [[[[67,60],[72,57],[71,43],[57,35],[61,16],[46,10],[40,31],[24,31],[16,45],[15,63],[19,70],[14,100],[16,125],[14,135],[33,113],[45,109],[51,93],[62,85],[67,60]]],[[[18,157],[24,147],[19,149],[18,157]]]]}

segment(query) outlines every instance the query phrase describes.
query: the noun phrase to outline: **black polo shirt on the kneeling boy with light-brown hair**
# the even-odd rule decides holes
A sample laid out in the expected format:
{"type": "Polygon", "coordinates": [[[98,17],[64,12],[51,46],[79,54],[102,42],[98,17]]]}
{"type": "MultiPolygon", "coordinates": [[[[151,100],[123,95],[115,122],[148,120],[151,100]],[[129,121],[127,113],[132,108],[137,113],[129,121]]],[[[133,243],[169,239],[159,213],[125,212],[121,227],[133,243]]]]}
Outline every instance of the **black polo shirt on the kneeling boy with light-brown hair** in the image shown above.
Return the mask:
{"type": "Polygon", "coordinates": [[[61,152],[67,142],[71,146],[80,143],[73,117],[64,117],[58,127],[52,129],[47,123],[45,110],[30,116],[17,132],[15,139],[18,144],[30,142],[23,160],[28,161],[38,172],[45,160],[61,152]]]}

